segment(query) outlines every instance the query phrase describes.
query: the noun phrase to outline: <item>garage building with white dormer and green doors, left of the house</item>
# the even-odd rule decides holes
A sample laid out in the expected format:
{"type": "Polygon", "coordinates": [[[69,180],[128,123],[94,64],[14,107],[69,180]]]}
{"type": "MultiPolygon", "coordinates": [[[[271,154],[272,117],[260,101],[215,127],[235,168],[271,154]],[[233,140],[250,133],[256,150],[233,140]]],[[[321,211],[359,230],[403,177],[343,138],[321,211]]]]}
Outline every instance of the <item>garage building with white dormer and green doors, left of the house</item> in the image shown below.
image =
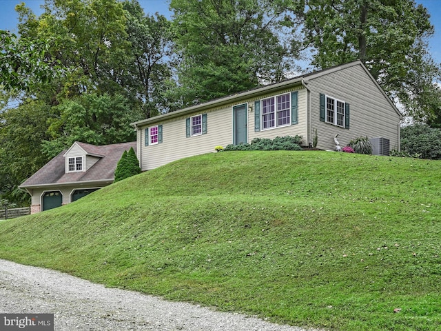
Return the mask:
{"type": "Polygon", "coordinates": [[[110,185],[125,150],[136,142],[94,146],[76,141],[19,188],[31,195],[31,214],[57,208],[110,185]]]}

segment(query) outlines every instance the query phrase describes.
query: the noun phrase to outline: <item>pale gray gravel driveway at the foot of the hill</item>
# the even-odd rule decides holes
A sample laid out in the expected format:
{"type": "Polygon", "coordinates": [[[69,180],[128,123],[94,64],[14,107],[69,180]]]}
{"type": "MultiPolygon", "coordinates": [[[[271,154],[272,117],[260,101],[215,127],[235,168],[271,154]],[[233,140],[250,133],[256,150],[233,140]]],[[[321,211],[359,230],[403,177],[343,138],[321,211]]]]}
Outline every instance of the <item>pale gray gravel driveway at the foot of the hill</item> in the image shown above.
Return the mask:
{"type": "MultiPolygon", "coordinates": [[[[56,331],[305,331],[0,259],[0,312],[54,314],[56,331]]],[[[309,329],[310,330],[310,329],[309,329]]]]}

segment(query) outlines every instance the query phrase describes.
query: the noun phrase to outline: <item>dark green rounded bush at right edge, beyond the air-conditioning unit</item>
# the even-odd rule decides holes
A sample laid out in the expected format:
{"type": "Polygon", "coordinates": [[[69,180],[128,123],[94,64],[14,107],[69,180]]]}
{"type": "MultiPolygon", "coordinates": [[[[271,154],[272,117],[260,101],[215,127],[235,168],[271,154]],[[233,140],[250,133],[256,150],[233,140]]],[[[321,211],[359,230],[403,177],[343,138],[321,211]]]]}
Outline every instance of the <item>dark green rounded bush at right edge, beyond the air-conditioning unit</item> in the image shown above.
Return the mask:
{"type": "Polygon", "coordinates": [[[402,156],[441,159],[441,130],[424,124],[401,129],[402,156]]]}

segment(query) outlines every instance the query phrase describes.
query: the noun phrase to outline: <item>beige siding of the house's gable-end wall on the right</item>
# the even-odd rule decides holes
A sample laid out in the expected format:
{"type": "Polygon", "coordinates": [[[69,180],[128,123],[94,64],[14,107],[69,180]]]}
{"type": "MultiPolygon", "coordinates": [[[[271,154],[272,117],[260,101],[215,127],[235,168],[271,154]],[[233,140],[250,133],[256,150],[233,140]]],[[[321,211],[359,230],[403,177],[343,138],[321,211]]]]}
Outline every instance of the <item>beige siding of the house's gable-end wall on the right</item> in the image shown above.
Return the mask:
{"type": "Polygon", "coordinates": [[[362,66],[351,66],[311,79],[311,130],[318,134],[318,148],[334,150],[334,135],[341,147],[356,137],[384,137],[398,148],[400,116],[362,66]],[[349,129],[320,121],[320,93],[349,103],[349,129]]]}

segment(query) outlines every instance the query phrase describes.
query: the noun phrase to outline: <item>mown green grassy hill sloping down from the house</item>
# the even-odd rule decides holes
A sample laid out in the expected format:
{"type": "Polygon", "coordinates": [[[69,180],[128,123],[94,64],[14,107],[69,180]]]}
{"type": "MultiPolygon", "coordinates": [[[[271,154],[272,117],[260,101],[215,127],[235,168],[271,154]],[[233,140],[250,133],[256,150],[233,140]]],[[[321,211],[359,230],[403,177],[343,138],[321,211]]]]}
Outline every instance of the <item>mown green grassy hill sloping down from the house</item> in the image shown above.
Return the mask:
{"type": "Polygon", "coordinates": [[[440,330],[440,168],[205,154],[1,222],[0,258],[292,325],[440,330]]]}

